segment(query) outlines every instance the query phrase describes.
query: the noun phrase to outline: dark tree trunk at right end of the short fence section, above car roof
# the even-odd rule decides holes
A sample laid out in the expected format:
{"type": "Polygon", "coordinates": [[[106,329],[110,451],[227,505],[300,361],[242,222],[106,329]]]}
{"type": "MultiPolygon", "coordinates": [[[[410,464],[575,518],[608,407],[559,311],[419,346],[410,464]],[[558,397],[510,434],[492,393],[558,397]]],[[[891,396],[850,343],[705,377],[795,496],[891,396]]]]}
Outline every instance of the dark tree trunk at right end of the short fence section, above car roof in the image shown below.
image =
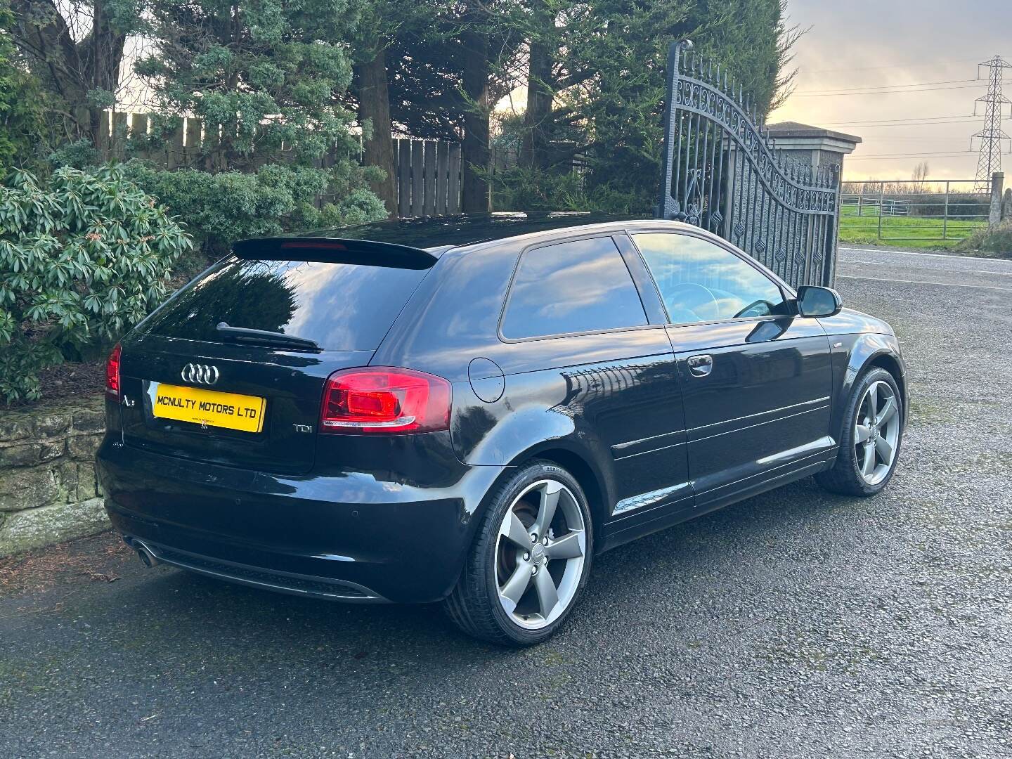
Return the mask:
{"type": "Polygon", "coordinates": [[[465,214],[485,214],[489,210],[489,38],[471,14],[460,34],[463,49],[463,92],[468,98],[463,113],[463,143],[460,147],[462,196],[465,214]]]}

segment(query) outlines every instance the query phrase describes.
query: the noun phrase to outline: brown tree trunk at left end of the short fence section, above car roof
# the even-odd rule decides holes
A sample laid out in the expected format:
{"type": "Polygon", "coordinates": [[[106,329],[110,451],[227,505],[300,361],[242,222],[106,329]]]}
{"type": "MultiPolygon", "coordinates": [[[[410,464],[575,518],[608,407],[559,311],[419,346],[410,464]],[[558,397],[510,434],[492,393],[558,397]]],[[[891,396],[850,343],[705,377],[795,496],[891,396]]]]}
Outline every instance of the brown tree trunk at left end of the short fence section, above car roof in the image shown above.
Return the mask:
{"type": "Polygon", "coordinates": [[[387,205],[390,216],[397,215],[397,177],[394,167],[394,138],[390,125],[390,94],[387,88],[387,53],[381,50],[371,61],[355,66],[358,121],[369,119],[372,135],[362,142],[362,164],[378,166],[387,176],[370,182],[372,191],[387,205]]]}

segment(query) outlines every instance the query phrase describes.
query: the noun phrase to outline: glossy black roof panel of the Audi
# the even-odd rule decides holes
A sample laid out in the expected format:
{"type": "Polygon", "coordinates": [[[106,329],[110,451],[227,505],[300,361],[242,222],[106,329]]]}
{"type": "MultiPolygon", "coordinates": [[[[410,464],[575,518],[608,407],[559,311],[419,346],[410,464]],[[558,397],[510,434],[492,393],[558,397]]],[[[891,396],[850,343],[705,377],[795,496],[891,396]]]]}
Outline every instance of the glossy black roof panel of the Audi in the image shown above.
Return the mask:
{"type": "Polygon", "coordinates": [[[459,216],[392,219],[354,227],[303,233],[302,238],[368,240],[420,248],[438,255],[449,248],[507,238],[602,224],[645,221],[640,216],[584,212],[463,214],[459,216]]]}

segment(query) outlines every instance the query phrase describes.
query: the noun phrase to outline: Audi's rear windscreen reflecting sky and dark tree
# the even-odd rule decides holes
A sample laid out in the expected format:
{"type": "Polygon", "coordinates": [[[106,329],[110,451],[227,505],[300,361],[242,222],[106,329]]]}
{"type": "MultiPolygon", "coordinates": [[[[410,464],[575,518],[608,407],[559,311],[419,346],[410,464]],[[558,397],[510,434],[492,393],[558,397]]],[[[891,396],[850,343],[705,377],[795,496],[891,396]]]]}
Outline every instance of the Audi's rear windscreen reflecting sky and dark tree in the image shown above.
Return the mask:
{"type": "Polygon", "coordinates": [[[217,326],[281,332],[323,350],[374,350],[428,269],[228,258],[143,330],[224,342],[217,326]]]}

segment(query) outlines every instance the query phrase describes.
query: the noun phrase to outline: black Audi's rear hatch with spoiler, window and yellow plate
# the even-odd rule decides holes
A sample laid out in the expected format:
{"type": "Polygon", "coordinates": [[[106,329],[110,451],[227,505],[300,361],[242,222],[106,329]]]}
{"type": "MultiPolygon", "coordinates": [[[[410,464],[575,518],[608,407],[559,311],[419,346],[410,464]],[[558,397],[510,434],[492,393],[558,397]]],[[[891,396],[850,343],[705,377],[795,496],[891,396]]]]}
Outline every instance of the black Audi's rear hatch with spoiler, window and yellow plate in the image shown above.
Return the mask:
{"type": "Polygon", "coordinates": [[[327,377],[368,364],[435,260],[360,241],[237,244],[123,340],[123,442],[309,472],[327,377]]]}

